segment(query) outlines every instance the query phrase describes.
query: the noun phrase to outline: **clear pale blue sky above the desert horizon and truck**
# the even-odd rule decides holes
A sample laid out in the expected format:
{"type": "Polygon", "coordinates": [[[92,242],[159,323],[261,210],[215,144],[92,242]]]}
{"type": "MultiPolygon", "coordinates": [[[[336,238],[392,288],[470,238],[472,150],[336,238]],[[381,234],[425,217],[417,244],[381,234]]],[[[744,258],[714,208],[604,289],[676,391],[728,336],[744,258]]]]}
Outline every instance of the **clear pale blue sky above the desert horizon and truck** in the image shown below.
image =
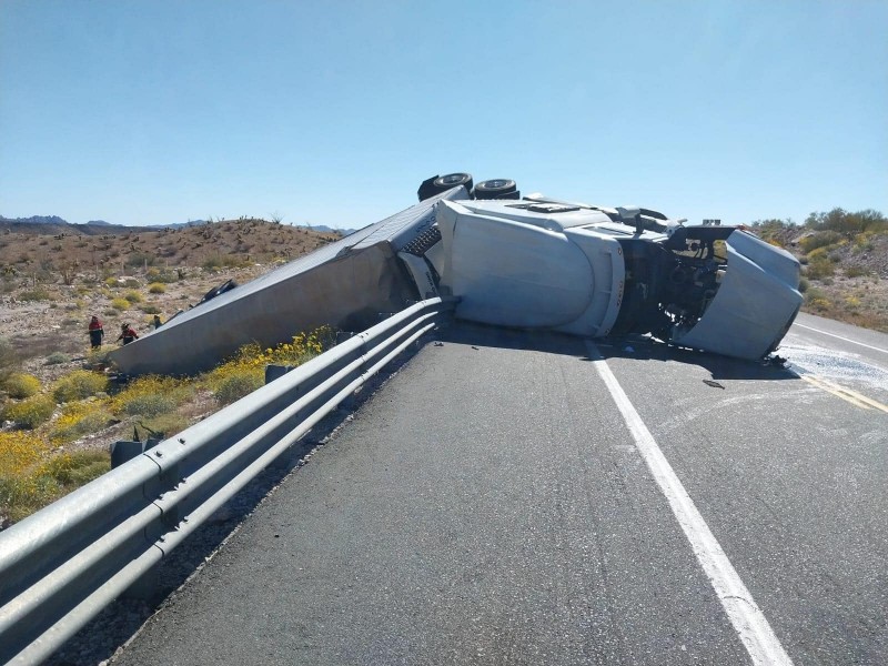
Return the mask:
{"type": "Polygon", "coordinates": [[[0,0],[0,214],[359,228],[452,171],[888,214],[886,28],[886,0],[0,0]]]}

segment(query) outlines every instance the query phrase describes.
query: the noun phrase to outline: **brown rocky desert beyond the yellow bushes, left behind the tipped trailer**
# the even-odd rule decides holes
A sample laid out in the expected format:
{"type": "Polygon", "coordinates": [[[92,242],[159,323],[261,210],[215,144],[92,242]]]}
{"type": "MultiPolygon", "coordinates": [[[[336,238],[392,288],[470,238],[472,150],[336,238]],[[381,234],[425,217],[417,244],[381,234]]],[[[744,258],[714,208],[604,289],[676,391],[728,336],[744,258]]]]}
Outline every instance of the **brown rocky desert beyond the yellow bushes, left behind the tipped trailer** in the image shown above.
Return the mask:
{"type": "Polygon", "coordinates": [[[123,323],[144,330],[155,313],[165,321],[226,280],[248,282],[339,238],[254,219],[165,230],[58,229],[0,222],[0,337],[41,380],[70,370],[46,363],[54,352],[88,351],[93,314],[104,324],[105,344],[119,344],[123,323]]]}

